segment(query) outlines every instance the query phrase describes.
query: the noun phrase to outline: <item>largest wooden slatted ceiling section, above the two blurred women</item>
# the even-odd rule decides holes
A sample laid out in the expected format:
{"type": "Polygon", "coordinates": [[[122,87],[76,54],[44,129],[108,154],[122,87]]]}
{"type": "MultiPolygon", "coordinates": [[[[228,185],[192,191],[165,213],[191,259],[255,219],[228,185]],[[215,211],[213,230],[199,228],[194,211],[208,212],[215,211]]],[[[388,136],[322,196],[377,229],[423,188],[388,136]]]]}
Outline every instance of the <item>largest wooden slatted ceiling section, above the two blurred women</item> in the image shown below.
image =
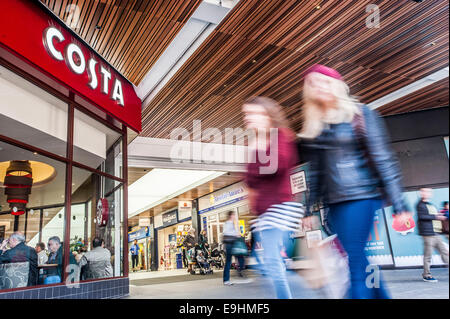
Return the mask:
{"type": "Polygon", "coordinates": [[[301,75],[314,63],[338,69],[361,101],[376,100],[448,65],[448,9],[440,0],[241,0],[144,106],[141,135],[169,138],[194,119],[243,128],[252,95],[278,100],[299,130],[301,75]],[[380,28],[366,27],[368,4],[379,6],[380,28]]]}

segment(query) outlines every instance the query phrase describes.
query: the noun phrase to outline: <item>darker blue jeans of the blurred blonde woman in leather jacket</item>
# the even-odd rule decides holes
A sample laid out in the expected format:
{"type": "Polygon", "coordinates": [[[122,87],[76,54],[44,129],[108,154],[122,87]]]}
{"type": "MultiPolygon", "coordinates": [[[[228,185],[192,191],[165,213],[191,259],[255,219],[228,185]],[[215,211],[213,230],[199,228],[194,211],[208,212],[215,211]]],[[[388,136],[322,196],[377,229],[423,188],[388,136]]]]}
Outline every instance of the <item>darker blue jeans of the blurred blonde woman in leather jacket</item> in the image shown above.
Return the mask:
{"type": "Polygon", "coordinates": [[[351,286],[348,295],[352,299],[389,299],[384,288],[381,274],[379,286],[370,288],[366,279],[373,275],[366,272],[369,262],[364,252],[370,230],[373,226],[375,211],[381,209],[381,200],[366,199],[331,204],[328,218],[339,241],[347,252],[350,268],[351,286]]]}

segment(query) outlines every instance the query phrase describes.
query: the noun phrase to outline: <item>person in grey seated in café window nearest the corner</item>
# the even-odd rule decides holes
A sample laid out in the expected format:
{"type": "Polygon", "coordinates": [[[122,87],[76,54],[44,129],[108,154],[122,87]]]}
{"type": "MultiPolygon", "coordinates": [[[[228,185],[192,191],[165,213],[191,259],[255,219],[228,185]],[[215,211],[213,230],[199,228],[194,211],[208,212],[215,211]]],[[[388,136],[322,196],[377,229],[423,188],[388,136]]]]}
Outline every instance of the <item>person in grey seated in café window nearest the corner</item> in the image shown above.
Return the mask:
{"type": "Polygon", "coordinates": [[[105,241],[94,238],[93,249],[81,257],[79,266],[84,279],[110,278],[113,276],[111,252],[105,248],[105,241]]]}

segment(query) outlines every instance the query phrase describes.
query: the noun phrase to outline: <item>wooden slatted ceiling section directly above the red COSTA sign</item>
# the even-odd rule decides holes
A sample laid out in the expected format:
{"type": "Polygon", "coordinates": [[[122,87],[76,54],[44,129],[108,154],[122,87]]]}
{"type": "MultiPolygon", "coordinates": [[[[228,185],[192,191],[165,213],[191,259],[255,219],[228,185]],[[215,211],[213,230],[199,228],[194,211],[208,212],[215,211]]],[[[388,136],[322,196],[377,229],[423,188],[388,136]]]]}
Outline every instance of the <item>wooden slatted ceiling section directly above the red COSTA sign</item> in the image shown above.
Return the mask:
{"type": "Polygon", "coordinates": [[[40,1],[138,85],[202,0],[40,1]]]}

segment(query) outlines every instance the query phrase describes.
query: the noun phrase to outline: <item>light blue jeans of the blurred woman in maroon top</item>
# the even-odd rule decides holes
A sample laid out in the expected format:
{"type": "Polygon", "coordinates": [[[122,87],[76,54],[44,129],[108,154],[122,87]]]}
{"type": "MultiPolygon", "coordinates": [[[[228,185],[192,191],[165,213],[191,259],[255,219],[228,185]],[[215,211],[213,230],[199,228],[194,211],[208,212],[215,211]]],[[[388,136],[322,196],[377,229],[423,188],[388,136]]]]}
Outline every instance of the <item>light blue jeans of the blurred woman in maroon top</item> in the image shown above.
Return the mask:
{"type": "Polygon", "coordinates": [[[292,294],[286,278],[286,268],[281,258],[282,243],[289,242],[289,232],[277,228],[261,231],[261,243],[264,249],[264,269],[272,279],[278,299],[291,299],[292,294]]]}

